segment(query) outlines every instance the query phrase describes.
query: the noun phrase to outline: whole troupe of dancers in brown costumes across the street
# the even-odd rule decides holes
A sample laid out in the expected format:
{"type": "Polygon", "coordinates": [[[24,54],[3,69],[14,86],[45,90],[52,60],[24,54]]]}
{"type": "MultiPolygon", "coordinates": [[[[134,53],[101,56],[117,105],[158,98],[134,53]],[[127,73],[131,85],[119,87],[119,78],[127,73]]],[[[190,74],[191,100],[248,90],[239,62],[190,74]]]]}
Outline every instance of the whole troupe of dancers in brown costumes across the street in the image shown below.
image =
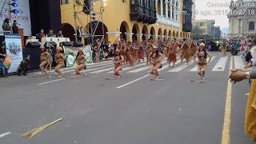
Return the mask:
{"type": "MultiPolygon", "coordinates": [[[[45,66],[49,63],[50,54],[46,51],[44,47],[41,48],[41,64],[40,69],[42,70],[42,75],[47,75],[45,66]]],[[[177,62],[177,53],[180,54],[181,64],[183,60],[186,60],[187,65],[192,61],[192,59],[198,58],[198,74],[200,79],[204,79],[206,72],[207,63],[210,62],[211,56],[206,52],[205,44],[201,43],[200,46],[196,46],[195,42],[190,39],[184,38],[182,42],[178,42],[176,39],[170,41],[170,39],[162,42],[154,42],[150,40],[149,42],[118,42],[117,49],[114,56],[114,75],[117,78],[121,78],[122,66],[129,64],[134,66],[135,62],[144,62],[146,56],[146,66],[151,65],[150,74],[154,75],[154,79],[159,78],[158,69],[162,68],[162,61],[167,58],[169,66],[175,66],[177,62]],[[209,56],[209,62],[206,62],[206,58],[209,56]]],[[[59,77],[62,77],[61,68],[64,66],[65,55],[60,52],[60,48],[57,47],[56,54],[54,54],[54,60],[57,63],[55,67],[55,72],[58,73],[59,77]]],[[[82,49],[78,50],[76,57],[77,65],[75,67],[75,74],[83,76],[81,72],[82,69],[86,70],[86,55],[83,54],[82,49]]]]}

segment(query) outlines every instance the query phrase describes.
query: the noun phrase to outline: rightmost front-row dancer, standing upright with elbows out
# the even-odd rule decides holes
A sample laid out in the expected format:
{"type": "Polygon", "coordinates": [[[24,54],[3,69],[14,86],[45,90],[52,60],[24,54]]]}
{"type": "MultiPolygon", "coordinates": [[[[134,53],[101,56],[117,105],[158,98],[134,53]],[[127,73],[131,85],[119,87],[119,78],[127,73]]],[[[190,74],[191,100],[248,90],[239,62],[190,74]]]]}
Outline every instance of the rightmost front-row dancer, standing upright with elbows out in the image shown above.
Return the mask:
{"type": "Polygon", "coordinates": [[[199,50],[196,52],[196,54],[194,54],[193,58],[194,58],[194,62],[196,62],[195,58],[198,57],[198,62],[197,62],[198,74],[200,75],[200,79],[202,80],[205,80],[206,66],[207,66],[207,63],[209,63],[209,62],[206,62],[207,55],[209,56],[209,62],[210,62],[211,56],[208,52],[206,52],[205,44],[201,43],[199,46],[199,50]]]}

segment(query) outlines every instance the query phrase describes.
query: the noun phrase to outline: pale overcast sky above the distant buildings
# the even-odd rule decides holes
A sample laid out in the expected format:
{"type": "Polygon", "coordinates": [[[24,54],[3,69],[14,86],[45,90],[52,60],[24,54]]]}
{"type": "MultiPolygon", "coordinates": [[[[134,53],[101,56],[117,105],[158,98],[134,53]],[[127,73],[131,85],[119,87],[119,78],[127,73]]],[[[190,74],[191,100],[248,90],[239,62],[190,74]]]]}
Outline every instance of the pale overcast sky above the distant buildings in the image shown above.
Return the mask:
{"type": "Polygon", "coordinates": [[[224,13],[225,10],[230,10],[230,8],[226,4],[230,4],[230,0],[195,0],[196,19],[214,19],[214,26],[228,28],[229,19],[224,13]],[[213,6],[213,4],[218,4],[220,6],[213,6]],[[216,13],[217,10],[219,14],[216,13]]]}

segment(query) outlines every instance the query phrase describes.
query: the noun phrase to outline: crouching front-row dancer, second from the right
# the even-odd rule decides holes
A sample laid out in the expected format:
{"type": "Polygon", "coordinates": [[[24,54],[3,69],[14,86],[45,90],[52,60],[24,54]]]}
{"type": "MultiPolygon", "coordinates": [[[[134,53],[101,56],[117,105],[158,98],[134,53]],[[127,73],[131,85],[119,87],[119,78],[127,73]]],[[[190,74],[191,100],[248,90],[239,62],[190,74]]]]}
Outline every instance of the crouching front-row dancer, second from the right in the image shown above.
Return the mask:
{"type": "Polygon", "coordinates": [[[164,56],[159,53],[158,47],[153,46],[153,51],[149,55],[150,64],[152,65],[150,69],[150,74],[154,74],[154,79],[159,78],[158,69],[162,68],[162,60],[164,56]]]}

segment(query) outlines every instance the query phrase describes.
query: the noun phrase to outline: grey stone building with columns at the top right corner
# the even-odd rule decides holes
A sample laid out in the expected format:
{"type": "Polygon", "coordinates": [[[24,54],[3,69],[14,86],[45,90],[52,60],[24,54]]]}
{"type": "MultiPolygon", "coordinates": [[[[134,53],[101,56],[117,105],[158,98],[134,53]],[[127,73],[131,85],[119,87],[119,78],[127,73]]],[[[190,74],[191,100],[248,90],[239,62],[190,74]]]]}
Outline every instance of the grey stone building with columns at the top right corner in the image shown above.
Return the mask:
{"type": "Polygon", "coordinates": [[[230,37],[250,36],[256,34],[256,1],[238,0],[230,2],[230,37]]]}

